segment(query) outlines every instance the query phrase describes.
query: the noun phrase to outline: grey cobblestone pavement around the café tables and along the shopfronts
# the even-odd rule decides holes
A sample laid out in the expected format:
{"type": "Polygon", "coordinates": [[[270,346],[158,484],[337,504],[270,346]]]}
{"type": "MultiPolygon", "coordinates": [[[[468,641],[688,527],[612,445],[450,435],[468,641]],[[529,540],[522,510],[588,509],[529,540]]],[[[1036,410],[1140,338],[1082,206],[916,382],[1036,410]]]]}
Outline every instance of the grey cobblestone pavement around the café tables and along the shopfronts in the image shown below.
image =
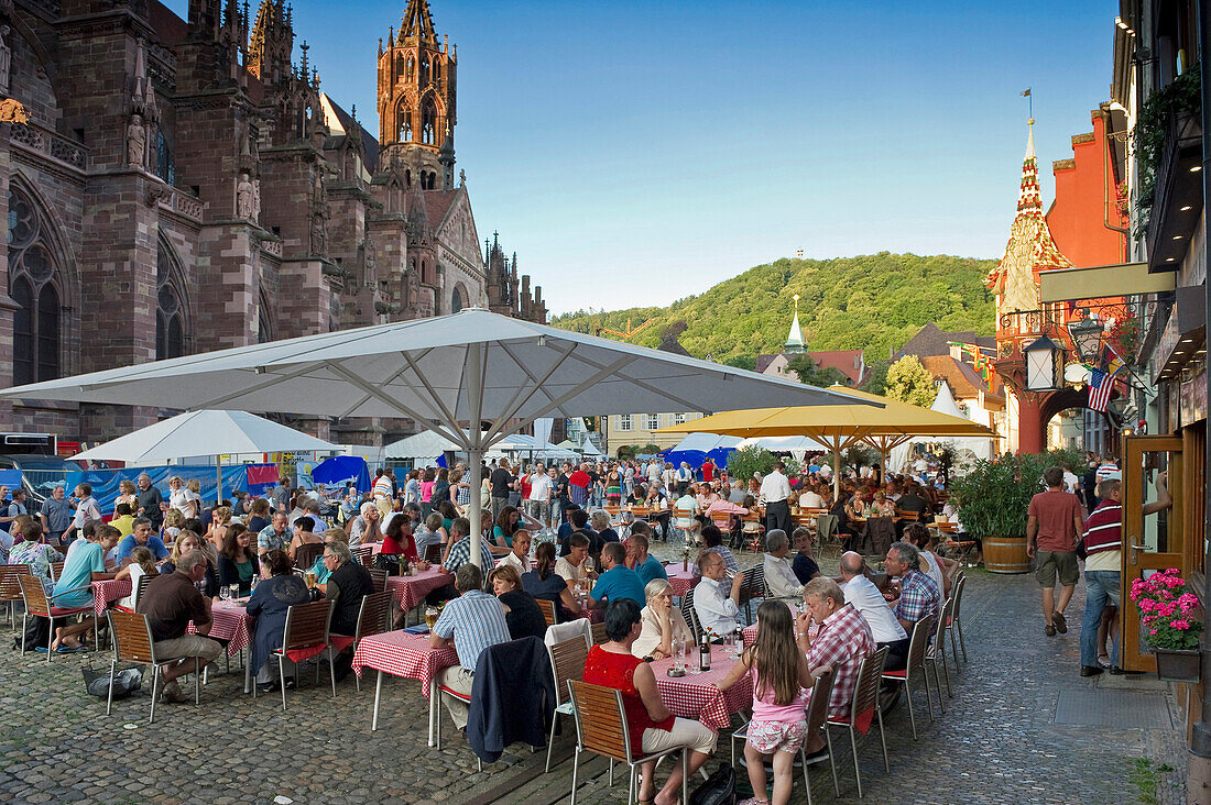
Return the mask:
{"type": "MultiPolygon", "coordinates": [[[[656,547],[666,558],[675,551],[656,547]]],[[[744,565],[752,562],[751,554],[741,557],[744,565]]],[[[826,571],[834,564],[826,562],[826,571]]],[[[917,742],[903,705],[890,714],[890,775],[877,741],[859,746],[866,801],[1184,801],[1177,730],[1056,723],[1060,696],[1069,691],[1112,697],[1117,690],[1142,691],[1159,697],[1150,701],[1173,718],[1177,711],[1169,689],[1154,679],[1080,679],[1081,592],[1069,608],[1068,634],[1056,638],[1043,634],[1037,597],[1028,576],[971,571],[964,616],[970,662],[957,677],[952,669],[954,698],[935,724],[918,713],[917,742]]],[[[44,655],[0,652],[0,801],[223,805],[285,797],[427,805],[568,798],[570,730],[556,738],[558,765],[550,775],[543,774],[544,752],[517,746],[477,772],[461,736],[441,751],[425,746],[427,707],[413,680],[385,678],[380,726],[372,732],[373,678],[357,692],[350,677],[333,700],[327,678],[316,686],[314,675],[304,674],[282,713],[280,695],[243,696],[242,673],[233,665],[231,673],[212,674],[200,707],[157,707],[149,725],[147,694],[116,702],[107,717],[104,701],[84,692],[80,668],[90,661],[105,659],[67,655],[47,665],[44,655]]],[[[725,759],[725,737],[721,749],[725,759]]],[[[840,800],[857,801],[848,749],[838,749],[837,761],[840,800]]],[[[742,770],[740,780],[747,786],[742,770]]],[[[601,759],[582,764],[581,781],[578,801],[625,801],[625,774],[608,788],[601,759]]],[[[813,772],[813,795],[817,803],[838,801],[823,766],[813,772]]],[[[802,780],[793,801],[804,801],[802,780]]]]}

